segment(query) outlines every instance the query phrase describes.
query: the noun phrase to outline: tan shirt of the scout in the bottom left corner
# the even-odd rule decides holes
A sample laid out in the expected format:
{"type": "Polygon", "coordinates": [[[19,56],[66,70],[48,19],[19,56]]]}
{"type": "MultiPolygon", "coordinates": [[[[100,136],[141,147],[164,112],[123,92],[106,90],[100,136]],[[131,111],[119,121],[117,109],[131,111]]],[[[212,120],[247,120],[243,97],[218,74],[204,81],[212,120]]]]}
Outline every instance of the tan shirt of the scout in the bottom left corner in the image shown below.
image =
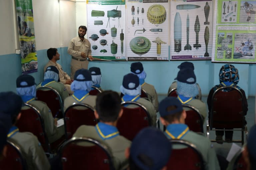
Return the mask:
{"type": "Polygon", "coordinates": [[[50,163],[37,137],[30,132],[17,132],[10,137],[23,152],[28,170],[50,170],[50,163]]]}

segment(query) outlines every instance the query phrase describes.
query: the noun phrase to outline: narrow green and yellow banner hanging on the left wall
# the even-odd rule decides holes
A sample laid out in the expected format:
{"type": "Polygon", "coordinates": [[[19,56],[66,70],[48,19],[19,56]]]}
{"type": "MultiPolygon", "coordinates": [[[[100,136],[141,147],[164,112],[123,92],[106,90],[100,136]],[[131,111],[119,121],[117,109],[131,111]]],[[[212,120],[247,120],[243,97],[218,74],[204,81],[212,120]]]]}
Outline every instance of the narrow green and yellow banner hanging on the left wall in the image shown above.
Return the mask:
{"type": "Polygon", "coordinates": [[[32,0],[15,0],[22,74],[37,72],[37,53],[32,0]]]}

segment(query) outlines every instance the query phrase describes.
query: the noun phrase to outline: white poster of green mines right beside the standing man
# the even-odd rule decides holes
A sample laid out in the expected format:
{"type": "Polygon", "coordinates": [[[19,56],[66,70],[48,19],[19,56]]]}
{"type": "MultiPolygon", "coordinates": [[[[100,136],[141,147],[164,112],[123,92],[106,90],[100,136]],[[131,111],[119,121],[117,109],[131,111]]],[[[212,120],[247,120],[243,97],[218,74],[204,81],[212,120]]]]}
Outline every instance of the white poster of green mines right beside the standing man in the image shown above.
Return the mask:
{"type": "Polygon", "coordinates": [[[87,0],[87,34],[94,58],[127,60],[125,20],[124,0],[87,0]]]}

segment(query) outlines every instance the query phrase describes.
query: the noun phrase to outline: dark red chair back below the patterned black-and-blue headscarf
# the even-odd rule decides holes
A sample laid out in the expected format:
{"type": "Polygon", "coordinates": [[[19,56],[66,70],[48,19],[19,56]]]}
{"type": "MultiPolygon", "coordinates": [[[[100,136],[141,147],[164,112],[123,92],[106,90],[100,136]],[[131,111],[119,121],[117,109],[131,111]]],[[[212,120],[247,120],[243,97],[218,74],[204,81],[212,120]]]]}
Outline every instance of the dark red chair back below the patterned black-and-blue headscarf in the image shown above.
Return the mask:
{"type": "Polygon", "coordinates": [[[210,129],[242,128],[245,125],[242,100],[243,94],[236,87],[224,86],[215,90],[211,99],[210,129]]]}

